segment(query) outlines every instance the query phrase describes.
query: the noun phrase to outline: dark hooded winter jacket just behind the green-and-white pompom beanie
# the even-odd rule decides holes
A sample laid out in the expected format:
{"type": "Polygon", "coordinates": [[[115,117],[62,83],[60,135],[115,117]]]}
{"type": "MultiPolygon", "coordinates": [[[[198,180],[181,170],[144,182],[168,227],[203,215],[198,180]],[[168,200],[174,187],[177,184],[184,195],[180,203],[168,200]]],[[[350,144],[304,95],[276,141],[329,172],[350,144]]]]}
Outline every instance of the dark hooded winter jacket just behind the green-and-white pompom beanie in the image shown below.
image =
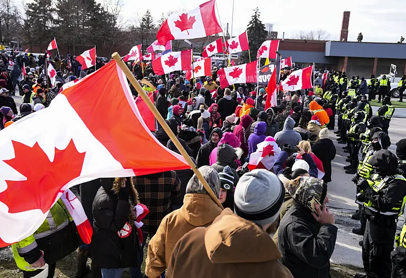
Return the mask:
{"type": "Polygon", "coordinates": [[[236,160],[240,155],[237,154],[237,152],[241,152],[241,149],[235,149],[227,144],[219,145],[217,152],[217,161],[216,163],[211,165],[211,167],[213,167],[214,170],[217,171],[217,173],[222,172],[225,166],[230,166],[234,174],[234,184],[237,184],[237,182],[240,180],[236,171],[238,167],[236,160]]]}

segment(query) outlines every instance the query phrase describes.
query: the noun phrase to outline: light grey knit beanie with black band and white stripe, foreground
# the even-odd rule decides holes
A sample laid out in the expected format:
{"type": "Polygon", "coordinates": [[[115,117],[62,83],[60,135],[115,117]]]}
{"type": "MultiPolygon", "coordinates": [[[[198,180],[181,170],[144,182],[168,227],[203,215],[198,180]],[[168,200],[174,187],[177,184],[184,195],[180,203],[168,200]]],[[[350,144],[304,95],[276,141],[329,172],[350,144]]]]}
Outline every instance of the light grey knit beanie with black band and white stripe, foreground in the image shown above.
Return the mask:
{"type": "Polygon", "coordinates": [[[274,173],[254,169],[238,181],[234,212],[263,227],[278,219],[284,196],[283,184],[274,173]]]}

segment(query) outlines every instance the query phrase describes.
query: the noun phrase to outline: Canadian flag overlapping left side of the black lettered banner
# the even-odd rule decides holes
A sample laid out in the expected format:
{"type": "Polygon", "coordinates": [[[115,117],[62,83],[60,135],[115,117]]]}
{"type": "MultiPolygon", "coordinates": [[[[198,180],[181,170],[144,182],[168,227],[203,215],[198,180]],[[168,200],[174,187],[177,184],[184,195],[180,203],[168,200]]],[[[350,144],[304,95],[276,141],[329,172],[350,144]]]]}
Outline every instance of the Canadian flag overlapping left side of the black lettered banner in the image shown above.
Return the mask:
{"type": "Polygon", "coordinates": [[[217,71],[222,88],[235,83],[257,82],[257,61],[235,67],[222,68],[217,71]]]}

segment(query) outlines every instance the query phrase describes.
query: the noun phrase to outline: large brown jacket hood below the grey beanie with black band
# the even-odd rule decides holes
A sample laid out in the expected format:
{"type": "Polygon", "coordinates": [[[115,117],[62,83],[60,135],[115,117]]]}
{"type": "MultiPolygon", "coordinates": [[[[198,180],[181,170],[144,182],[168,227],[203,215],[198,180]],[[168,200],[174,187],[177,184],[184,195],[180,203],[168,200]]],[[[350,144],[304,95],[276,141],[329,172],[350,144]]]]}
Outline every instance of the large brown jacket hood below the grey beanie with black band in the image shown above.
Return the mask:
{"type": "Polygon", "coordinates": [[[212,263],[258,263],[282,257],[272,238],[260,226],[229,208],[206,229],[204,245],[212,263]]]}

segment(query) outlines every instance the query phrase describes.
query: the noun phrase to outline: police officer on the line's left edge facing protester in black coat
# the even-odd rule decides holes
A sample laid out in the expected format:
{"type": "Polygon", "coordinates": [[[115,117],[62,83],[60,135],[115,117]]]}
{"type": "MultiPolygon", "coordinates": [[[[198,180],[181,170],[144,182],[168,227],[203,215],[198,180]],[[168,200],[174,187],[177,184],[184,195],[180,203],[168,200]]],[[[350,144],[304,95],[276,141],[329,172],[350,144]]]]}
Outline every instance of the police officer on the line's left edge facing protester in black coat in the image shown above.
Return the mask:
{"type": "Polygon", "coordinates": [[[358,111],[354,115],[354,122],[352,123],[350,129],[347,132],[347,140],[349,141],[349,154],[350,154],[350,165],[345,166],[346,174],[355,174],[358,167],[358,153],[361,148],[361,141],[359,136],[367,130],[364,123],[365,113],[358,111]]]}

